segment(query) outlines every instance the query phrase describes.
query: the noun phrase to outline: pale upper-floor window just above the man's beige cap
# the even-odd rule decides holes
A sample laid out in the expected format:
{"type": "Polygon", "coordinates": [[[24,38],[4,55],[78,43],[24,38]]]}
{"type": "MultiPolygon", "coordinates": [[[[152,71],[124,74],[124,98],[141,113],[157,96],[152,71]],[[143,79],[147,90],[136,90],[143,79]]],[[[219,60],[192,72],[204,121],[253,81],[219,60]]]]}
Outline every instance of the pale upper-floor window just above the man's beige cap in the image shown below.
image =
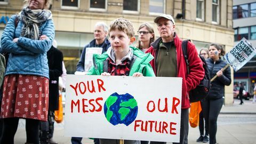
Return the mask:
{"type": "Polygon", "coordinates": [[[149,0],[149,13],[159,14],[165,13],[164,11],[164,0],[149,0]]]}

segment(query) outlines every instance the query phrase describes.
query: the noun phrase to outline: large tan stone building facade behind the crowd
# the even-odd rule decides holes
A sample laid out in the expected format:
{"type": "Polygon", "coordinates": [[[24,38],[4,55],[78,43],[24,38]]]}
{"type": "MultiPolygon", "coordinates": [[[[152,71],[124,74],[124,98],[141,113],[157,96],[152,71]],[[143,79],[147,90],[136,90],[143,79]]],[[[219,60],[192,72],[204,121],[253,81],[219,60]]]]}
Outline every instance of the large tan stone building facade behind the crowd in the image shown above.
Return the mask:
{"type": "MultiPolygon", "coordinates": [[[[210,43],[219,43],[229,51],[234,45],[232,6],[232,0],[54,0],[51,11],[58,49],[63,52],[68,73],[74,74],[83,46],[93,39],[94,24],[109,24],[119,17],[129,19],[135,31],[141,23],[149,22],[159,36],[154,18],[159,13],[171,14],[179,37],[191,39],[198,51],[210,43]]],[[[0,34],[4,21],[22,7],[22,1],[0,0],[0,34]]],[[[226,105],[233,103],[233,85],[226,87],[225,97],[226,105]]]]}

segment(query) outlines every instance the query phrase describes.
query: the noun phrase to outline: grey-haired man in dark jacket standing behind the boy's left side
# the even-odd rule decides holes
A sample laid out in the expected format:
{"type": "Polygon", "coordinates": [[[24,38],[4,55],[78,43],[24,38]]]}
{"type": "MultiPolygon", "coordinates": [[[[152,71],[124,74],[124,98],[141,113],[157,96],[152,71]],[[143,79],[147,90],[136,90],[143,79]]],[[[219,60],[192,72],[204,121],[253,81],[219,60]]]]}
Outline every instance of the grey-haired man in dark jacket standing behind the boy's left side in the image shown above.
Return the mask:
{"type": "MultiPolygon", "coordinates": [[[[110,42],[107,39],[108,35],[108,26],[104,22],[97,22],[94,26],[94,39],[84,46],[83,52],[81,54],[80,60],[78,61],[76,65],[76,71],[82,72],[82,74],[85,73],[85,53],[87,47],[102,47],[102,53],[106,52],[108,48],[110,47],[110,42]]],[[[76,72],[77,73],[77,72],[76,72]]],[[[75,73],[75,74],[76,74],[75,73]]],[[[72,144],[82,144],[82,139],[79,137],[72,137],[71,143],[72,144]]],[[[99,144],[99,139],[94,139],[95,144],[99,144]]]]}

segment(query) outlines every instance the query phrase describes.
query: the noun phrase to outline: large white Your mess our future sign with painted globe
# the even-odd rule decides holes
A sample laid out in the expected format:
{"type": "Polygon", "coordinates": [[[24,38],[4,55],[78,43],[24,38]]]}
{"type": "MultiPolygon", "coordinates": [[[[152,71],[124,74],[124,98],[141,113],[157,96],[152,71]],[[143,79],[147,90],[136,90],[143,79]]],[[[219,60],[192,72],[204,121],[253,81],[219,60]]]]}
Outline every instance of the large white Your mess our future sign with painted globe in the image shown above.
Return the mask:
{"type": "Polygon", "coordinates": [[[68,75],[65,135],[179,142],[182,78],[68,75]]]}

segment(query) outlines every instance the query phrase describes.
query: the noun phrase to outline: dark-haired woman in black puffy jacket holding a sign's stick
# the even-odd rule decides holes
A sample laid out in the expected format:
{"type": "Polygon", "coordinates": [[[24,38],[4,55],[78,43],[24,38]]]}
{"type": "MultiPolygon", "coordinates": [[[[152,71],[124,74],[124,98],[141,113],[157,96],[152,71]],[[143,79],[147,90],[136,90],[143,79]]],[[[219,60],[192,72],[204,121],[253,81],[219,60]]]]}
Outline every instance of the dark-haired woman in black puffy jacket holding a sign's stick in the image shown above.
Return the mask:
{"type": "Polygon", "coordinates": [[[225,67],[227,63],[221,60],[221,55],[225,55],[225,51],[222,47],[218,44],[211,44],[209,47],[210,59],[207,59],[206,63],[209,68],[211,78],[215,75],[217,75],[217,78],[211,82],[209,94],[204,100],[202,100],[204,118],[209,129],[210,144],[216,143],[217,119],[224,103],[225,85],[231,84],[230,67],[222,71],[223,67],[225,67]]]}

